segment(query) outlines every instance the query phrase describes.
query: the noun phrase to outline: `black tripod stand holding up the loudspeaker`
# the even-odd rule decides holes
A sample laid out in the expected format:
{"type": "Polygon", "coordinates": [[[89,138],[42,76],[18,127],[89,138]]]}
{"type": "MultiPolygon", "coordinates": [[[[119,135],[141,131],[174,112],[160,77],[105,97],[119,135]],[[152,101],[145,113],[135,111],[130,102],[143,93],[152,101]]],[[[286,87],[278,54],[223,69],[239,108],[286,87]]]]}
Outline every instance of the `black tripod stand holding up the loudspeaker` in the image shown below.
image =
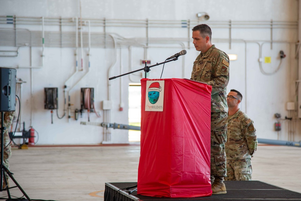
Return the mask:
{"type": "Polygon", "coordinates": [[[1,163],[0,163],[0,191],[3,191],[3,190],[6,190],[7,191],[7,195],[8,195],[8,199],[6,200],[16,200],[16,199],[12,199],[11,198],[11,194],[9,192],[9,189],[10,188],[15,188],[15,187],[18,187],[20,189],[20,191],[24,194],[24,196],[27,198],[27,200],[29,201],[32,201],[28,195],[25,193],[25,191],[21,188],[21,186],[18,184],[18,182],[14,179],[13,177],[13,173],[11,173],[10,171],[8,171],[8,169],[3,165],[3,134],[4,134],[4,130],[6,130],[6,127],[3,127],[3,119],[4,119],[4,112],[1,111],[1,163]],[[6,172],[8,174],[9,177],[11,177],[11,179],[14,181],[14,183],[16,184],[16,186],[14,187],[8,187],[8,184],[7,184],[7,180],[6,180],[6,175],[4,174],[4,172],[6,172]],[[5,188],[3,189],[3,180],[4,180],[4,183],[5,183],[5,188]]]}

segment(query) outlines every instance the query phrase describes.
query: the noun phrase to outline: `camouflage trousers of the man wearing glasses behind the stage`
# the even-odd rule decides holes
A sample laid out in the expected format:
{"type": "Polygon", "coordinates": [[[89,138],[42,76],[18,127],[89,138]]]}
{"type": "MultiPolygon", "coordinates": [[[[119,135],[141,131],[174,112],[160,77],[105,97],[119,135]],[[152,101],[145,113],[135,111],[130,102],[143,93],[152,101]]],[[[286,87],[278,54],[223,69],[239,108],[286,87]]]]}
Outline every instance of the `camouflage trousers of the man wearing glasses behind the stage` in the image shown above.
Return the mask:
{"type": "Polygon", "coordinates": [[[227,160],[227,181],[252,180],[251,159],[227,160]]]}

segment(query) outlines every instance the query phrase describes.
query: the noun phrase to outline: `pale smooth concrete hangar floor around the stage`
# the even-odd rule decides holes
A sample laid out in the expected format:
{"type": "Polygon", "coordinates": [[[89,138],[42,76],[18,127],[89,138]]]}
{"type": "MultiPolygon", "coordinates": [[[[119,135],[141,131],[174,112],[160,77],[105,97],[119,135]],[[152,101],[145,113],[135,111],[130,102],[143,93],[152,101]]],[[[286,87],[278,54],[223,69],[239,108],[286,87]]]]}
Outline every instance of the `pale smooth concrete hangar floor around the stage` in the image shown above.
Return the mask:
{"type": "MultiPolygon", "coordinates": [[[[10,170],[30,199],[102,201],[106,182],[137,181],[139,155],[139,145],[13,148],[10,170]]],[[[259,145],[252,166],[253,180],[301,193],[301,148],[259,145]]]]}

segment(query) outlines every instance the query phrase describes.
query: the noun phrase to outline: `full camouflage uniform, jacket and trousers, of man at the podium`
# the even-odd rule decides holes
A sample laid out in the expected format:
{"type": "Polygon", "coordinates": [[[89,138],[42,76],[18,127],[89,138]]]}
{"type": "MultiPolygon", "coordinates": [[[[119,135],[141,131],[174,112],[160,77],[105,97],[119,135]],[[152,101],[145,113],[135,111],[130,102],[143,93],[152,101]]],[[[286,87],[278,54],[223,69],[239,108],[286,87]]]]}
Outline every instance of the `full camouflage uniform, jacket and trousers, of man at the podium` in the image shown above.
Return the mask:
{"type": "Polygon", "coordinates": [[[226,175],[224,143],[227,141],[228,106],[226,87],[229,82],[229,57],[212,45],[193,63],[191,80],[212,86],[211,93],[211,175],[226,175]]]}

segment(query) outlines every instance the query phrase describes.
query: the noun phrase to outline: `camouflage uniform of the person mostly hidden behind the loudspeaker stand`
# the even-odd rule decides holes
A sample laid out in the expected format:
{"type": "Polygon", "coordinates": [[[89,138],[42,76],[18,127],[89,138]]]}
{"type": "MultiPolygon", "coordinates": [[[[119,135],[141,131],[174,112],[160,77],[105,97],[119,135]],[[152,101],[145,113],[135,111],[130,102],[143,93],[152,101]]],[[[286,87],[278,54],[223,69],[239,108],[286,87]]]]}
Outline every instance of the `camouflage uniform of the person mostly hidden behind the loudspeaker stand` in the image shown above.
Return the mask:
{"type": "MultiPolygon", "coordinates": [[[[11,122],[14,117],[14,111],[11,112],[4,112],[4,120],[3,120],[3,127],[6,127],[6,130],[3,132],[3,165],[5,168],[9,170],[9,163],[8,159],[11,157],[11,145],[10,145],[10,138],[8,135],[8,128],[11,126],[11,122]]],[[[1,116],[0,116],[1,122],[1,116]]],[[[1,123],[0,123],[1,127],[1,123]]],[[[0,136],[1,139],[1,136],[0,136]]],[[[7,181],[8,181],[8,174],[5,172],[7,181]]],[[[4,183],[3,183],[4,184],[4,183]]]]}

